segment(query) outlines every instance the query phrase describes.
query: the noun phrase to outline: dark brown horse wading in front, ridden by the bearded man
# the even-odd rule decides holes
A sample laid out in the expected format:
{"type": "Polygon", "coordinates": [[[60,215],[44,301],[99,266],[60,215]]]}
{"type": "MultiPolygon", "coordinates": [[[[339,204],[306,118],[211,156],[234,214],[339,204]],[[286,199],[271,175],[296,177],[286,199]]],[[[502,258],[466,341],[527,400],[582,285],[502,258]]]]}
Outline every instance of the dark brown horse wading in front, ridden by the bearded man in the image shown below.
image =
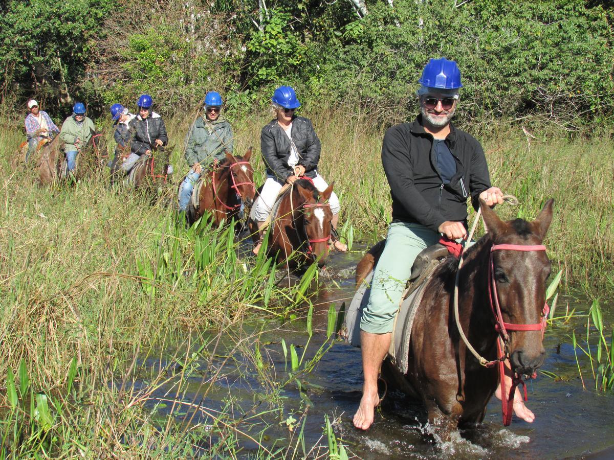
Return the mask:
{"type": "MultiPolygon", "coordinates": [[[[553,200],[549,200],[531,222],[503,222],[481,202],[489,233],[465,254],[458,307],[462,331],[477,353],[491,361],[488,367],[470,353],[456,325],[453,292],[458,261],[452,257],[433,272],[425,286],[411,331],[407,374],[389,359],[384,361],[386,380],[422,399],[430,423],[441,434],[484,419],[486,404],[500,380],[497,360],[508,358],[518,378],[534,375],[543,363],[550,261],[542,241],[552,220],[552,207],[553,200]],[[499,340],[504,343],[501,354],[499,340]]],[[[363,277],[377,259],[378,251],[365,256],[357,276],[363,277]]]]}

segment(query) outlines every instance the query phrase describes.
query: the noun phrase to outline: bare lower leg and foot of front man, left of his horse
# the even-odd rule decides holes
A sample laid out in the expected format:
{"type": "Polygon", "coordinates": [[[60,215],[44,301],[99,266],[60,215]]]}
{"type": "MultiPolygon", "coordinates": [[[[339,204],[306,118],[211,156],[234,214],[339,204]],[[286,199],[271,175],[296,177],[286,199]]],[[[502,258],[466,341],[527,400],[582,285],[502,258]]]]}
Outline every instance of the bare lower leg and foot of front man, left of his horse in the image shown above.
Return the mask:
{"type": "Polygon", "coordinates": [[[371,334],[360,331],[360,347],[362,348],[362,370],[365,383],[362,386],[362,399],[356,414],[354,426],[366,430],[373,423],[375,408],[379,404],[378,374],[382,361],[390,348],[392,334],[371,334]]]}

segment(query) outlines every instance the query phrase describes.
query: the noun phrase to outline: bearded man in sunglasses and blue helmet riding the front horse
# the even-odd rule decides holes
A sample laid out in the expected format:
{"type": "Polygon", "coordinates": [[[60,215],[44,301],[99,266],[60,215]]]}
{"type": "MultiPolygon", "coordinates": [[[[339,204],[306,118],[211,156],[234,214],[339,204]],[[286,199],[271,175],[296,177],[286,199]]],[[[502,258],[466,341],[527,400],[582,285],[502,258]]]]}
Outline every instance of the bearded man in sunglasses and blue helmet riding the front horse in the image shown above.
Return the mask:
{"type": "MultiPolygon", "coordinates": [[[[364,383],[354,415],[354,426],[360,429],[373,423],[379,404],[378,372],[390,347],[395,313],[416,256],[437,243],[441,234],[451,240],[467,235],[469,196],[475,209],[478,198],[490,207],[503,202],[499,188],[491,186],[480,143],[450,123],[462,88],[456,62],[430,59],[419,83],[418,117],[389,128],[382,145],[382,163],[391,188],[392,223],[360,321],[364,383]]],[[[500,393],[499,388],[497,397],[500,393]]],[[[534,420],[519,391],[514,407],[523,420],[534,420]]]]}

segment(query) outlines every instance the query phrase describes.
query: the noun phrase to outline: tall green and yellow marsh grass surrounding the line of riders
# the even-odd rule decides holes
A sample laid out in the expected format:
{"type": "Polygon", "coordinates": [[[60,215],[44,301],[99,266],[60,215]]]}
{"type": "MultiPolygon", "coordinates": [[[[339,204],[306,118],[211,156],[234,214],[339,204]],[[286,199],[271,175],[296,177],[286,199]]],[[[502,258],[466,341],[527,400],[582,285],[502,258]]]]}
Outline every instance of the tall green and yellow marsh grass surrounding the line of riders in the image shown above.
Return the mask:
{"type": "MultiPolygon", "coordinates": [[[[383,132],[374,132],[373,120],[360,113],[306,115],[322,140],[320,172],[335,180],[344,232],[350,239],[354,228],[371,240],[383,236],[391,212],[379,159],[383,132]]],[[[182,140],[194,118],[167,120],[175,183],[187,171],[182,140]]],[[[236,152],[254,145],[258,153],[267,121],[265,114],[236,121],[236,152]]],[[[243,332],[249,318],[285,318],[309,303],[315,269],[288,285],[264,251],[246,258],[249,246],[233,240],[229,229],[202,221],[185,229],[163,205],[174,199],[174,185],[160,190],[166,199],[155,204],[110,190],[106,171],[71,187],[38,186],[36,172],[8,166],[21,140],[18,130],[0,129],[0,456],[235,457],[247,441],[263,457],[282,451],[316,457],[330,449],[343,458],[330,424],[330,447],[305,446],[300,426],[308,402],[293,418],[278,397],[284,386],[302,393],[301,375],[330,347],[334,319],[328,341],[308,355],[283,343],[282,375],[267,364],[260,332],[243,332]],[[223,354],[222,335],[235,343],[223,354]],[[168,350],[176,351],[168,356],[168,350]],[[266,388],[265,409],[254,401],[236,411],[236,397],[216,386],[223,363],[238,354],[246,357],[241,372],[255,372],[266,388]],[[199,360],[208,362],[204,370],[199,360]],[[284,442],[247,429],[269,411],[289,429],[284,442]]],[[[564,281],[612,288],[612,141],[545,137],[529,144],[510,130],[483,144],[493,183],[521,201],[515,210],[502,207],[504,217],[532,218],[554,197],[546,245],[564,281]]],[[[260,155],[254,163],[262,183],[260,155]]]]}

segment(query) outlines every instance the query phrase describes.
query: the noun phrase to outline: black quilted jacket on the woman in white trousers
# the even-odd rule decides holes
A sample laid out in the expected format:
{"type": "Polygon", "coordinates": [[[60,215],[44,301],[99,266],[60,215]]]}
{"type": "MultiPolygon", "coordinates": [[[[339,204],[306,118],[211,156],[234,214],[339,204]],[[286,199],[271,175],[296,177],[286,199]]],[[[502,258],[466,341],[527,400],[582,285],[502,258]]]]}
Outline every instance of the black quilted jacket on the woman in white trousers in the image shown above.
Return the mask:
{"type": "MultiPolygon", "coordinates": [[[[292,141],[297,147],[298,163],[305,166],[307,177],[316,177],[317,162],[320,161],[321,144],[316,136],[316,131],[308,118],[292,118],[292,130],[290,131],[292,141]]],[[[290,158],[290,139],[284,129],[278,125],[277,120],[262,128],[260,133],[260,149],[266,164],[266,174],[274,175],[282,182],[294,174],[292,168],[288,166],[290,158]]]]}

